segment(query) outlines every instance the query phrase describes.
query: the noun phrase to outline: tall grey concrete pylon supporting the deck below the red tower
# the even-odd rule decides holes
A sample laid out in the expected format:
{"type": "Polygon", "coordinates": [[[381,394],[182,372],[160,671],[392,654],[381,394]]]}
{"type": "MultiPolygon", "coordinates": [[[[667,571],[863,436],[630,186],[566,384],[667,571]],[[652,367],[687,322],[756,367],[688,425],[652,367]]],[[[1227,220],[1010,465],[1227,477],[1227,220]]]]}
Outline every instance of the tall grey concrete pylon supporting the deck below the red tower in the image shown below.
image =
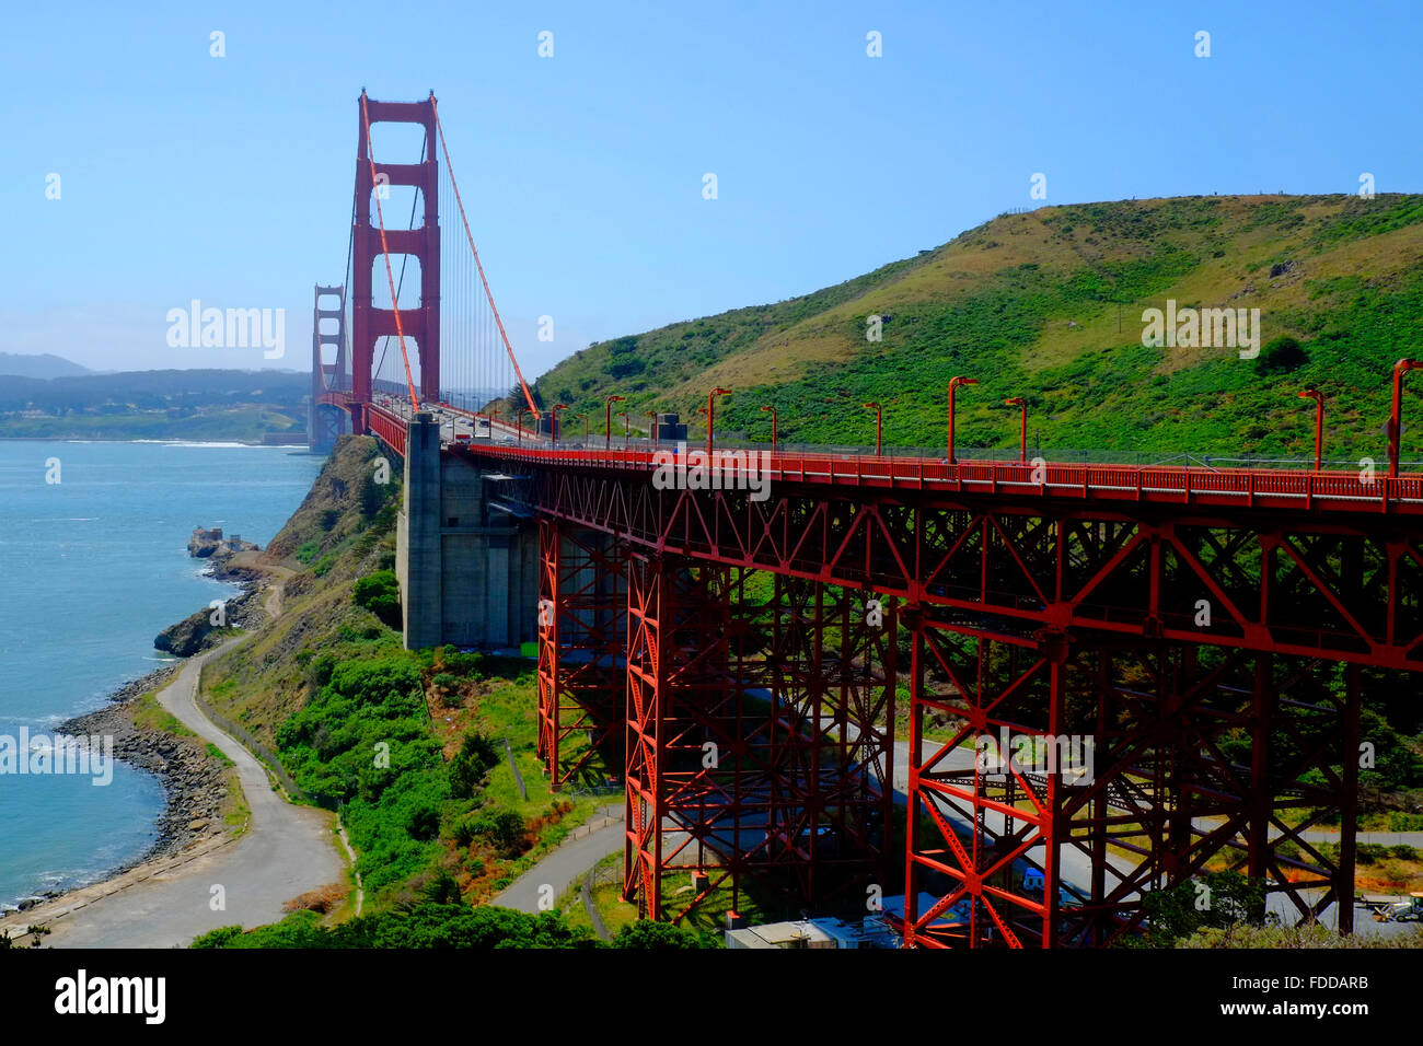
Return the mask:
{"type": "Polygon", "coordinates": [[[517,649],[538,638],[538,531],[504,501],[509,477],[440,447],[420,414],[406,430],[396,575],[407,649],[517,649]]]}

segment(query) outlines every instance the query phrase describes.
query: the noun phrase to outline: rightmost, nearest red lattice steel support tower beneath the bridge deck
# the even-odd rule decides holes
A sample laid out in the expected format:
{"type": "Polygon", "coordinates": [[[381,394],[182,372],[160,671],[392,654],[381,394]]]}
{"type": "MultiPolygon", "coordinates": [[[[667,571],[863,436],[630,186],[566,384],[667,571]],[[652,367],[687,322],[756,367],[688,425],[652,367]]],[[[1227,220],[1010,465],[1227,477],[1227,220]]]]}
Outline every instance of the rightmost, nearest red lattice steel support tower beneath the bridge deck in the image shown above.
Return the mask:
{"type": "Polygon", "coordinates": [[[1007,638],[941,608],[905,622],[921,753],[908,944],[1110,944],[1140,926],[1144,891],[1207,862],[1265,879],[1299,915],[1342,901],[1352,926],[1358,667],[1110,635],[1007,638]],[[1063,740],[1019,764],[999,757],[1005,739],[1063,740]],[[1336,860],[1299,837],[1332,814],[1336,860]]]}

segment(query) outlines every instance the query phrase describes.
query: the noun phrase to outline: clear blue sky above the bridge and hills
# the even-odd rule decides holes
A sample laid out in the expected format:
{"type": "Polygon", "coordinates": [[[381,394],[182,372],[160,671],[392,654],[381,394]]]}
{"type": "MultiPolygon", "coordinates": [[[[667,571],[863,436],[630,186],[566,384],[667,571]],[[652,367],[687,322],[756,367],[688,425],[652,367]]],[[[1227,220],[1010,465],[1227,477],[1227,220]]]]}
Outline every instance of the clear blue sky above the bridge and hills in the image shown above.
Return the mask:
{"type": "Polygon", "coordinates": [[[531,376],[936,246],[1032,205],[1037,172],[1049,204],[1423,188],[1416,1],[142,7],[6,14],[0,350],[306,367],[312,285],[344,272],[361,87],[440,98],[531,376]],[[287,356],[171,349],[194,297],[286,309],[287,356]]]}

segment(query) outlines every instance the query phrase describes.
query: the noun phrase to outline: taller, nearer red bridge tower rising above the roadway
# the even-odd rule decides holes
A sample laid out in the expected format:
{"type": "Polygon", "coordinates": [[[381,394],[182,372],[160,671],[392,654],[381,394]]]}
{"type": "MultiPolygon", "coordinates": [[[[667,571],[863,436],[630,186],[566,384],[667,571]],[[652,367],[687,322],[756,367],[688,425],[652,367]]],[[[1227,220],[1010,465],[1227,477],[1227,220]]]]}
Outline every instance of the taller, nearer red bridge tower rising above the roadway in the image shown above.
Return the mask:
{"type": "MultiPolygon", "coordinates": [[[[440,398],[440,169],[435,162],[435,115],[430,101],[374,101],[360,95],[359,149],[356,157],[356,219],[351,229],[351,424],[367,431],[366,404],[371,401],[377,337],[404,333],[420,350],[420,398],[440,398]],[[425,132],[418,164],[371,164],[370,128],[376,124],[418,124],[425,132]],[[384,229],[371,221],[373,194],[390,185],[411,185],[424,201],[424,223],[416,229],[384,229]],[[414,255],[420,260],[420,307],[377,309],[371,302],[373,268],[381,253],[414,255]]],[[[386,196],[381,196],[384,201],[386,196]]]]}

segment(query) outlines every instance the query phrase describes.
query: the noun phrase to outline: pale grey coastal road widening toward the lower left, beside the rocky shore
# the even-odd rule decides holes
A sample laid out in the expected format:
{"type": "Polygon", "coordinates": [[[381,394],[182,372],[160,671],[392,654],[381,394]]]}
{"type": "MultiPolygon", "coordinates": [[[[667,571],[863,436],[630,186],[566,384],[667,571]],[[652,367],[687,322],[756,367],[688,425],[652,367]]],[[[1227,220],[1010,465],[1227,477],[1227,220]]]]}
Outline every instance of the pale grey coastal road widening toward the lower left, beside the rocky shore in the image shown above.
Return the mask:
{"type": "MultiPolygon", "coordinates": [[[[240,639],[235,642],[242,642],[240,639]]],[[[223,648],[218,648],[225,649],[223,648]]],[[[189,659],[159,702],[184,726],[215,743],[236,763],[252,821],[236,842],[169,872],[154,875],[50,922],[46,945],[55,948],[172,948],[218,926],[258,926],[282,918],[282,904],[344,881],[333,815],[292,805],[275,793],[262,764],[222,733],[194,703],[198,672],[218,650],[189,659]],[[225,909],[215,911],[222,888],[225,909]]],[[[55,908],[67,907],[61,898],[55,908]]],[[[30,922],[46,921],[43,911],[30,922]]]]}

